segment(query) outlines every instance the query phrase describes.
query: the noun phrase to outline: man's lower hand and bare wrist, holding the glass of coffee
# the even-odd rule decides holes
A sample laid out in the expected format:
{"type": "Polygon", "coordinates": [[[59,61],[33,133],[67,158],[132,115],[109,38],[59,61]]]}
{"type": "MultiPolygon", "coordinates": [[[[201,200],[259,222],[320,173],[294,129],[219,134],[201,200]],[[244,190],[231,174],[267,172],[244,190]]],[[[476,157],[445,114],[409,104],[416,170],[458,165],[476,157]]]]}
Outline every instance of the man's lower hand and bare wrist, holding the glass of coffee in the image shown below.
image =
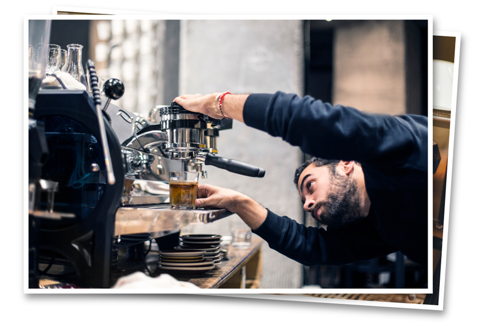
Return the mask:
{"type": "Polygon", "coordinates": [[[198,185],[198,199],[195,200],[195,206],[208,209],[225,208],[239,215],[253,230],[264,222],[268,214],[264,207],[247,195],[209,184],[198,185]]]}

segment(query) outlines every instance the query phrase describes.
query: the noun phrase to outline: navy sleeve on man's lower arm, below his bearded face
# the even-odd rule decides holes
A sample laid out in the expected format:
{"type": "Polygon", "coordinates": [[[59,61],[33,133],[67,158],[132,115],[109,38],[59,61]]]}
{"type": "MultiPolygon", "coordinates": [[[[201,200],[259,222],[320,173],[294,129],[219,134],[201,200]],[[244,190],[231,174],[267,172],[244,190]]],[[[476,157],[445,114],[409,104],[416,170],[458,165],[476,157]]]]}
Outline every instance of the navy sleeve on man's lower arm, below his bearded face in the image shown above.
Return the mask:
{"type": "Polygon", "coordinates": [[[365,219],[346,229],[325,230],[306,227],[268,210],[263,224],[253,232],[270,248],[307,266],[344,265],[398,251],[382,240],[365,219]]]}

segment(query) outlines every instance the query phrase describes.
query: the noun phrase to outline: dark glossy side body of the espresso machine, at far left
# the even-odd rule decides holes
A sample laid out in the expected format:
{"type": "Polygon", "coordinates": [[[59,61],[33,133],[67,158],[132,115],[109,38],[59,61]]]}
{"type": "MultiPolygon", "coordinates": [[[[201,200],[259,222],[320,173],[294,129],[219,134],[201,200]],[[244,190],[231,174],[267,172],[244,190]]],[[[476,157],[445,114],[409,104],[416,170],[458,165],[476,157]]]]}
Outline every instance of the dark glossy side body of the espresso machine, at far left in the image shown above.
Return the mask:
{"type": "Polygon", "coordinates": [[[40,209],[60,215],[37,221],[40,259],[66,260],[80,286],[109,287],[114,217],[124,188],[118,140],[105,121],[115,174],[110,184],[94,103],[86,91],[41,90],[34,117],[44,124],[49,148],[41,179],[58,184],[52,204],[41,195],[40,209]]]}

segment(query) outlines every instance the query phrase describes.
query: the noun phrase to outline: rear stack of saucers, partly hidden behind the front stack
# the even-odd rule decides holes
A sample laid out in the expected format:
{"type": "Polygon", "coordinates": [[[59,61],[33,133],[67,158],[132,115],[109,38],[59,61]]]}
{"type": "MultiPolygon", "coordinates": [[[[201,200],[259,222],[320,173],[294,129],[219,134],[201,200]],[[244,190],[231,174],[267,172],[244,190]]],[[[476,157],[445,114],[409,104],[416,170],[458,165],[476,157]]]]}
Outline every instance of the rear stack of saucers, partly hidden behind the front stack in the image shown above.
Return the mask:
{"type": "MultiPolygon", "coordinates": [[[[214,265],[221,264],[222,254],[220,250],[220,239],[222,236],[213,234],[187,234],[180,237],[179,247],[188,250],[203,250],[203,257],[212,259],[214,265]]],[[[175,248],[175,249],[176,249],[175,248]]]]}

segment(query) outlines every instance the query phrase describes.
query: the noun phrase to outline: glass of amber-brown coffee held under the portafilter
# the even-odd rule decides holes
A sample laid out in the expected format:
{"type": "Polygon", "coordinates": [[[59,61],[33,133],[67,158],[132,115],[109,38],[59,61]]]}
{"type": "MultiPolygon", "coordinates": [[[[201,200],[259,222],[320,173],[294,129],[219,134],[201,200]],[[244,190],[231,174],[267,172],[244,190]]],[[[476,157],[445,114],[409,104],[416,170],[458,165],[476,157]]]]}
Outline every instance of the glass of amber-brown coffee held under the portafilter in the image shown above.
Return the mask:
{"type": "Polygon", "coordinates": [[[169,203],[172,209],[195,209],[199,175],[194,171],[169,172],[169,203]]]}

